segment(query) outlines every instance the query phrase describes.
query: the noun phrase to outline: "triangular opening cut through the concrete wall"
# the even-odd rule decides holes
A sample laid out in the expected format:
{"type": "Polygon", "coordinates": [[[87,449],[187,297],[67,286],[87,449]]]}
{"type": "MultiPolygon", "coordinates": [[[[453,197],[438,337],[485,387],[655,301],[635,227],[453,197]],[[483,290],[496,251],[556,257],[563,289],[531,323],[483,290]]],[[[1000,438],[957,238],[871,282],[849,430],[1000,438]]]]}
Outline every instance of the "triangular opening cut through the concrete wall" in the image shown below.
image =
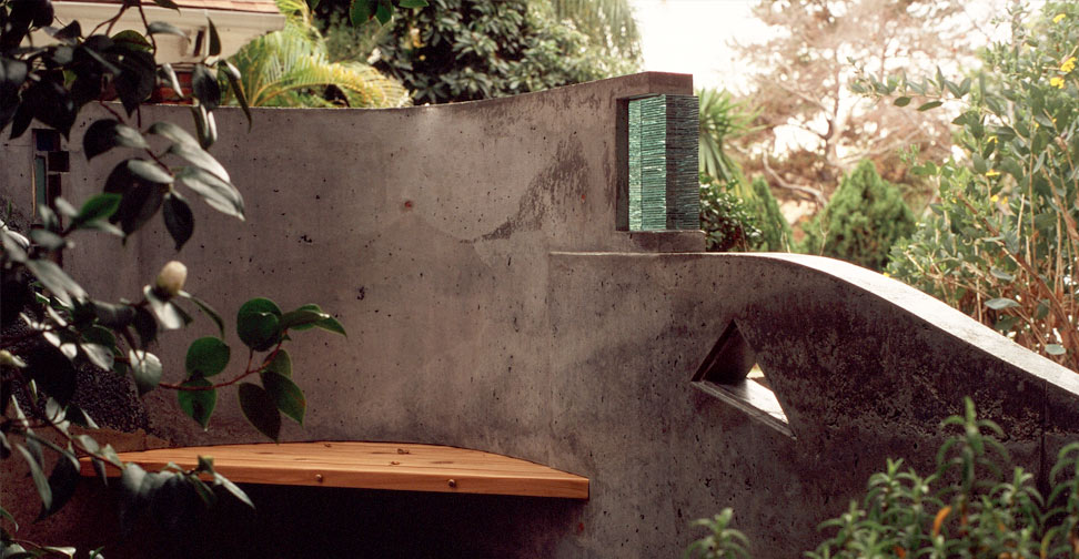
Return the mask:
{"type": "Polygon", "coordinates": [[[693,376],[693,385],[752,415],[765,425],[794,437],[787,415],[757,365],[757,352],[730,321],[693,376]]]}

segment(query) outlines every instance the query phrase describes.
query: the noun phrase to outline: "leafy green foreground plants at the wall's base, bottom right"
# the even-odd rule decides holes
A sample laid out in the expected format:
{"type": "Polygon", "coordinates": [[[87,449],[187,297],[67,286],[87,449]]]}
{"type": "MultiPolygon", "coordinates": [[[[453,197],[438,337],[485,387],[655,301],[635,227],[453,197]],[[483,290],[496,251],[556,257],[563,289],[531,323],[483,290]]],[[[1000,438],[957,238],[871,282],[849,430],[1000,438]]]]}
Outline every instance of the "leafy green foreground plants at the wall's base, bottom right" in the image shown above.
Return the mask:
{"type": "MultiPolygon", "coordinates": [[[[965,399],[962,416],[942,427],[958,433],[937,453],[937,470],[922,477],[902,460],[887,461],[869,478],[861,502],[820,525],[828,537],[810,559],[866,557],[1075,557],[1079,526],[1079,443],[1060,450],[1043,498],[1033,475],[1010,465],[992,421],[978,419],[965,399]],[[939,489],[938,489],[939,488],[939,489]]],[[[728,528],[729,509],[715,520],[698,520],[713,533],[694,542],[703,557],[743,556],[744,537],[728,528]]]]}

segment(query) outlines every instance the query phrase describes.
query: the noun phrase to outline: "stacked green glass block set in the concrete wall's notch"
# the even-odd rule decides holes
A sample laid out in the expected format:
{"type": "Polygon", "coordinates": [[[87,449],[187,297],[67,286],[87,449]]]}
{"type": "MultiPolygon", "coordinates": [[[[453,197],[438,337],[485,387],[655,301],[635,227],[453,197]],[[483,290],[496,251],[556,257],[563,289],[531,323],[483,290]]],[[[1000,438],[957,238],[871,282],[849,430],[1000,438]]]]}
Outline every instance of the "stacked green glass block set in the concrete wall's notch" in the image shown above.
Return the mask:
{"type": "Polygon", "coordinates": [[[699,228],[697,98],[629,102],[629,230],[699,228]]]}

